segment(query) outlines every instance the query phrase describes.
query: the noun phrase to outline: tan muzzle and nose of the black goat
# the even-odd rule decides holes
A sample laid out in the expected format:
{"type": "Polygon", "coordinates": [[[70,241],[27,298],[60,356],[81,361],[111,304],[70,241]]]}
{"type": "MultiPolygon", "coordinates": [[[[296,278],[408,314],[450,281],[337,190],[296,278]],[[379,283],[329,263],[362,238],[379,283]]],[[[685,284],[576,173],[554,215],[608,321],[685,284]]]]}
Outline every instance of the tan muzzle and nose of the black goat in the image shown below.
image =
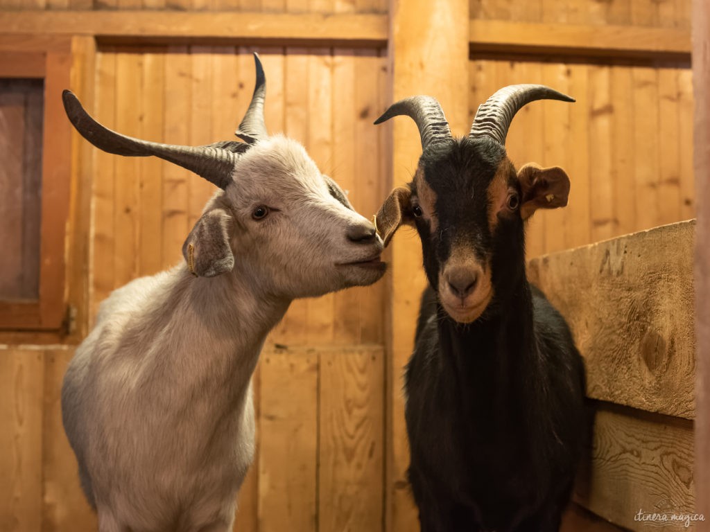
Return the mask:
{"type": "Polygon", "coordinates": [[[471,323],[493,299],[491,267],[476,259],[465,240],[452,245],[449,260],[439,271],[439,301],[459,323],[471,323]]]}

